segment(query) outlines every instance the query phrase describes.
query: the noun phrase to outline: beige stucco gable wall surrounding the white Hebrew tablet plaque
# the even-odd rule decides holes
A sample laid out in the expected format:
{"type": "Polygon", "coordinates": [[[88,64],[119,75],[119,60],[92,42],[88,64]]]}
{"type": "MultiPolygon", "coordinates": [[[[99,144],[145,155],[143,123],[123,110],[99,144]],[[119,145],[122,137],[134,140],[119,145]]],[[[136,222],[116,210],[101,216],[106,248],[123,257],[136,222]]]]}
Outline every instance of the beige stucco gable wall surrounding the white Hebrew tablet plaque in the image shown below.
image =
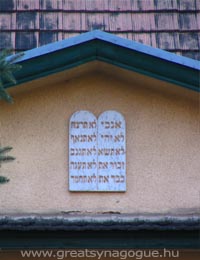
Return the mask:
{"type": "Polygon", "coordinates": [[[13,146],[16,156],[0,169],[11,179],[0,186],[0,213],[198,211],[198,98],[150,78],[105,71],[40,79],[26,84],[26,91],[17,87],[13,105],[0,102],[1,145],[13,146]],[[68,191],[68,122],[77,110],[124,115],[125,193],[68,191]]]}

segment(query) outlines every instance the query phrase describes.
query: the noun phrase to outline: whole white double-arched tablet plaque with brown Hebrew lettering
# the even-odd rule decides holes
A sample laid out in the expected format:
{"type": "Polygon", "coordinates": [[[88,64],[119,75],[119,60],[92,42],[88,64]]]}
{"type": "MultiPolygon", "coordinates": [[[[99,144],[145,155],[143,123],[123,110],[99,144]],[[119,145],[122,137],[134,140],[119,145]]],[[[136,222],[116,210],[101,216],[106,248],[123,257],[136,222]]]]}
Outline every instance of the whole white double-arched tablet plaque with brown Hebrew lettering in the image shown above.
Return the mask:
{"type": "Polygon", "coordinates": [[[124,117],[75,112],[69,123],[69,190],[126,191],[124,117]]]}

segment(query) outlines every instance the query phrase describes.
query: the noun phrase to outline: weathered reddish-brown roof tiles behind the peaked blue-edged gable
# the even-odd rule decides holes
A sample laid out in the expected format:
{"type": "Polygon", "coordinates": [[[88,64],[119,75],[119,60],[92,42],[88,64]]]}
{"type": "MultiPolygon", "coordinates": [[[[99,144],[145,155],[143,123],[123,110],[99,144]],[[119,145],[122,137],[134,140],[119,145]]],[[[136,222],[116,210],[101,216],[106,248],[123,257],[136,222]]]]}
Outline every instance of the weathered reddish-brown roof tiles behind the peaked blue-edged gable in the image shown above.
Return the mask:
{"type": "Polygon", "coordinates": [[[0,1],[0,49],[27,50],[95,29],[200,59],[199,0],[0,1]]]}

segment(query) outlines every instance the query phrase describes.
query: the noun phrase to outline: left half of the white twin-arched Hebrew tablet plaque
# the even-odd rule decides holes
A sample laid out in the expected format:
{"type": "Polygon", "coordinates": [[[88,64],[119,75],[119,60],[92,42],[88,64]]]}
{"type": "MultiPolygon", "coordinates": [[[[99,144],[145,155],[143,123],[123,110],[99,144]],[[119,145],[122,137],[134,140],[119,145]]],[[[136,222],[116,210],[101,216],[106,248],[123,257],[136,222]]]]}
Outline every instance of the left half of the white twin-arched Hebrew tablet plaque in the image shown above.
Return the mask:
{"type": "Polygon", "coordinates": [[[88,111],[78,111],[69,125],[69,189],[96,191],[97,119],[88,111]]]}

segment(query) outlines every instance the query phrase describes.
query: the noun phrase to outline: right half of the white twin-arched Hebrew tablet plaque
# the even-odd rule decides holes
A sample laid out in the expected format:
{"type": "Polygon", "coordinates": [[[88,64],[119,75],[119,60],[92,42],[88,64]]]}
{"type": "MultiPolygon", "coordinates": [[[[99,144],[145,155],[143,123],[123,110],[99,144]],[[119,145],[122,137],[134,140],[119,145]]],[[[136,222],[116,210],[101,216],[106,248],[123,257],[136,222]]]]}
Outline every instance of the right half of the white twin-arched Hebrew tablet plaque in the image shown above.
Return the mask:
{"type": "Polygon", "coordinates": [[[98,119],[98,190],[126,190],[125,120],[116,111],[98,119]]]}

